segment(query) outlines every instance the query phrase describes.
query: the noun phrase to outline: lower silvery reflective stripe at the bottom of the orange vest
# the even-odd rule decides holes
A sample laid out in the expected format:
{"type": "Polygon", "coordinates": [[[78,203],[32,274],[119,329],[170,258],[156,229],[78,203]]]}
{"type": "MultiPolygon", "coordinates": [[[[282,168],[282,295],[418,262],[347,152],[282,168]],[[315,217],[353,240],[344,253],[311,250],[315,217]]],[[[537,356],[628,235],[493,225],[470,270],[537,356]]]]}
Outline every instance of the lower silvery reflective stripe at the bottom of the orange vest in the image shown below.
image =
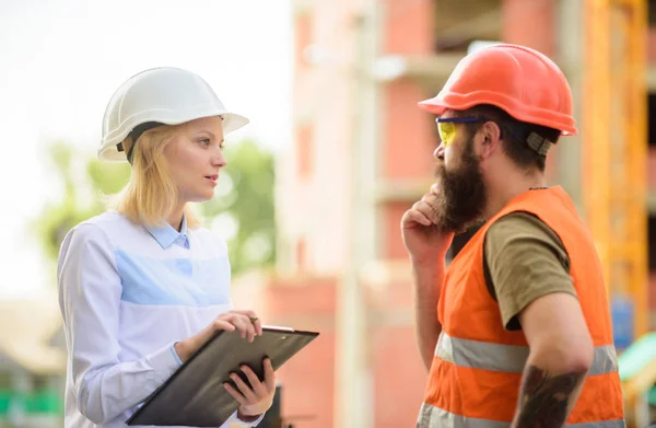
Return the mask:
{"type": "MultiPolygon", "coordinates": [[[[511,423],[502,420],[468,418],[424,403],[419,413],[417,428],[508,428],[511,423]]],[[[566,428],[626,428],[624,419],[598,423],[571,424],[566,428]]]]}

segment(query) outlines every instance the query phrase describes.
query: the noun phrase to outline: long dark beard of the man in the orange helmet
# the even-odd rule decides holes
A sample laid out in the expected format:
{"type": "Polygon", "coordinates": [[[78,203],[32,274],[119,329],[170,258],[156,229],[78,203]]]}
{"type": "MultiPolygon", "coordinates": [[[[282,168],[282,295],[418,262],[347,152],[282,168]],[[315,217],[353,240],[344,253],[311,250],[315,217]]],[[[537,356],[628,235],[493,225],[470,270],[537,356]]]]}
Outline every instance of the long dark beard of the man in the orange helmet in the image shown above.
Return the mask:
{"type": "Polygon", "coordinates": [[[436,227],[460,233],[482,219],[487,189],[479,160],[473,152],[473,140],[469,140],[458,169],[447,171],[440,164],[435,172],[440,186],[440,207],[436,227]]]}

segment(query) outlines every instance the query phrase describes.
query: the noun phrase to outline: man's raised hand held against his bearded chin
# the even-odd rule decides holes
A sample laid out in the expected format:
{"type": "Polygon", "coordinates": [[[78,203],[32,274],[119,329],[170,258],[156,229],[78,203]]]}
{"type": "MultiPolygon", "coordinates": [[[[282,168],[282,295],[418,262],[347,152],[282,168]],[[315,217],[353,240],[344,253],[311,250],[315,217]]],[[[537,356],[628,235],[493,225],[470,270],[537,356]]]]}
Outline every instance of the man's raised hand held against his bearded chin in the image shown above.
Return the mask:
{"type": "Polygon", "coordinates": [[[406,250],[413,264],[435,263],[446,255],[454,233],[443,230],[437,224],[441,209],[437,200],[438,186],[433,184],[431,192],[415,203],[401,219],[401,234],[406,250]]]}

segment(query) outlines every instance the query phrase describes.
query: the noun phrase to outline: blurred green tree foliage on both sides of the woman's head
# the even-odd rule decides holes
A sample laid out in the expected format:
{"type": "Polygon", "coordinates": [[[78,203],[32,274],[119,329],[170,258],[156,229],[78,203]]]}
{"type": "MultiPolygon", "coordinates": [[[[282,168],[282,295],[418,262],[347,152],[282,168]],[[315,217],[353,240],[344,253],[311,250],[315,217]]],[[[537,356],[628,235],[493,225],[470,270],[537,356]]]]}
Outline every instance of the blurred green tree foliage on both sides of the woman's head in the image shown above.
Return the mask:
{"type": "MultiPolygon", "coordinates": [[[[102,195],[119,192],[128,182],[126,163],[102,162],[67,143],[50,147],[50,159],[63,187],[62,197],[44,206],[35,229],[47,256],[56,261],[66,233],[105,210],[102,195]]],[[[273,154],[253,140],[226,144],[215,197],[200,204],[204,225],[227,238],[233,275],[265,267],[276,259],[273,154]]]]}

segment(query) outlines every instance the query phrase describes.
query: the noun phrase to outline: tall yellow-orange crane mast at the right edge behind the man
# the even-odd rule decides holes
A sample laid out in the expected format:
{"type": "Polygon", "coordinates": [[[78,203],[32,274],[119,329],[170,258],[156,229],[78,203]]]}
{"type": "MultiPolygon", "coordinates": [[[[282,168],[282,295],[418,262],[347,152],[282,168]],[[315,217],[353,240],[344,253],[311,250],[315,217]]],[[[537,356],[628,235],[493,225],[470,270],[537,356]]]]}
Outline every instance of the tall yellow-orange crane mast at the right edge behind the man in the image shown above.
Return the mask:
{"type": "MultiPolygon", "coordinates": [[[[645,0],[586,0],[584,13],[584,206],[620,352],[640,338],[641,344],[654,343],[646,336],[646,9],[645,0]]],[[[656,360],[646,358],[643,370],[622,379],[630,427],[648,424],[644,396],[656,382],[656,360]]]]}

